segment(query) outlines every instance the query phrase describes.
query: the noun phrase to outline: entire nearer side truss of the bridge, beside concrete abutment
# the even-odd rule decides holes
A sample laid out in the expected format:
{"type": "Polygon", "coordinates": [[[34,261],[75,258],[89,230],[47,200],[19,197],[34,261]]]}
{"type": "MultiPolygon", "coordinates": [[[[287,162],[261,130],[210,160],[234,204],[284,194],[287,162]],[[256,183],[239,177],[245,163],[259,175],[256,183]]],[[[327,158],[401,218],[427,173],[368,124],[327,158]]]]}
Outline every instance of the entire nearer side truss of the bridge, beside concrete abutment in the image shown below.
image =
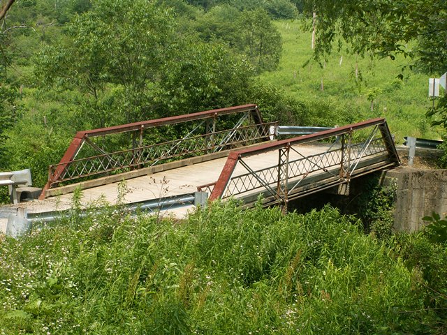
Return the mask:
{"type": "Polygon", "coordinates": [[[399,163],[385,119],[373,119],[232,151],[219,179],[198,190],[210,192],[210,200],[235,197],[245,202],[263,193],[266,202],[286,207],[292,198],[347,184],[353,177],[399,163]],[[300,144],[307,149],[314,144],[316,154],[302,153],[300,144]],[[251,157],[269,151],[277,151],[277,161],[258,169],[251,165],[251,157]]]}

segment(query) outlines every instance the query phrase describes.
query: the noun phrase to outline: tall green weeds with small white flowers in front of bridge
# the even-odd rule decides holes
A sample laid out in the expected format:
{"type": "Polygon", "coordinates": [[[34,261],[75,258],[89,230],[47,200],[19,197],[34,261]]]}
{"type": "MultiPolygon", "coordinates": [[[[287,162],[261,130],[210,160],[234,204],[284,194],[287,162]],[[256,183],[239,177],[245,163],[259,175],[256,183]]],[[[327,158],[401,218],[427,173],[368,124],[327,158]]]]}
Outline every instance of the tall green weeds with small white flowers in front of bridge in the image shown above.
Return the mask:
{"type": "Polygon", "coordinates": [[[0,334],[429,334],[427,292],[329,207],[112,209],[0,241],[0,334]]]}

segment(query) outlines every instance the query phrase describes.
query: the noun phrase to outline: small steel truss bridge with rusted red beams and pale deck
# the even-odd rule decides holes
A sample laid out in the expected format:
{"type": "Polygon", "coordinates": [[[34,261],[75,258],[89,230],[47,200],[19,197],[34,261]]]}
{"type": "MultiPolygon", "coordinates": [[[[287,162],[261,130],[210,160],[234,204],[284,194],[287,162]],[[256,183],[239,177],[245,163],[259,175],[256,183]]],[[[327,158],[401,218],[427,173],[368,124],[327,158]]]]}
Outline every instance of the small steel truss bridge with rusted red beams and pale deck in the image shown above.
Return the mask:
{"type": "Polygon", "coordinates": [[[328,188],[346,193],[351,179],[400,164],[385,119],[285,139],[275,135],[277,126],[264,122],[256,105],[243,105],[80,131],[50,166],[41,200],[75,188],[94,200],[127,179],[131,203],[206,193],[249,207],[261,195],[265,206],[286,209],[290,200],[328,188]],[[149,187],[155,179],[182,191],[161,196],[149,187]]]}

